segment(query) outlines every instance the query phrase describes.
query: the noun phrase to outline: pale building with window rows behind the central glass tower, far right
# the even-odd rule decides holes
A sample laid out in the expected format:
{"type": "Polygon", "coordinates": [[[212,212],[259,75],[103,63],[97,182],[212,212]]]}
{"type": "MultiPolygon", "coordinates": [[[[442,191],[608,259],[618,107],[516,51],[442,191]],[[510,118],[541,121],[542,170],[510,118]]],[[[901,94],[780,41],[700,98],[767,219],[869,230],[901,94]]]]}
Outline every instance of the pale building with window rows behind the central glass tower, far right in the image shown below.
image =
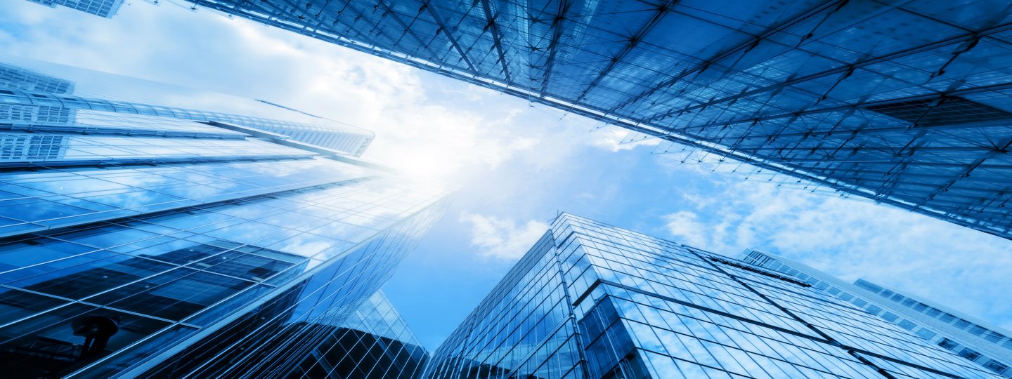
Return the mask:
{"type": "Polygon", "coordinates": [[[850,302],[886,321],[948,349],[966,360],[1012,378],[1012,333],[959,311],[858,279],[843,282],[796,261],[757,250],[742,253],[741,260],[796,278],[840,300],[850,302]]]}

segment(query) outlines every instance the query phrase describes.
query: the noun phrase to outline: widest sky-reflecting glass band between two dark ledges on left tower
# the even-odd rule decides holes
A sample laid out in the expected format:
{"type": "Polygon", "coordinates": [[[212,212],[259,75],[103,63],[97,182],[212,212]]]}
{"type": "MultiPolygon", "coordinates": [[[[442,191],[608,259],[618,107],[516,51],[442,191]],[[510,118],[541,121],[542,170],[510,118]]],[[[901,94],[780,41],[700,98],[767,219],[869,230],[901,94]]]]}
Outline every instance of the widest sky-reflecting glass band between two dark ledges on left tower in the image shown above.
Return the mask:
{"type": "Polygon", "coordinates": [[[8,172],[0,174],[0,235],[364,180],[371,173],[323,159],[8,172]]]}

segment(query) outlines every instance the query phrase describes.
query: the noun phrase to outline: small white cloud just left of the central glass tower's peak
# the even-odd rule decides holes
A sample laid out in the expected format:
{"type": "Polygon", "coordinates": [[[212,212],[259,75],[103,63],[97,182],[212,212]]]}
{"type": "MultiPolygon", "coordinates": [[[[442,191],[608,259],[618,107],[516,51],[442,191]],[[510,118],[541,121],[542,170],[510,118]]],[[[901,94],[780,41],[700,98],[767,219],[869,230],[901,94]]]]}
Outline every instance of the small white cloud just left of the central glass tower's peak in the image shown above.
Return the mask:
{"type": "Polygon", "coordinates": [[[515,260],[522,257],[537,242],[549,224],[538,220],[518,223],[482,214],[463,213],[460,221],[471,224],[471,245],[490,258],[515,260]]]}

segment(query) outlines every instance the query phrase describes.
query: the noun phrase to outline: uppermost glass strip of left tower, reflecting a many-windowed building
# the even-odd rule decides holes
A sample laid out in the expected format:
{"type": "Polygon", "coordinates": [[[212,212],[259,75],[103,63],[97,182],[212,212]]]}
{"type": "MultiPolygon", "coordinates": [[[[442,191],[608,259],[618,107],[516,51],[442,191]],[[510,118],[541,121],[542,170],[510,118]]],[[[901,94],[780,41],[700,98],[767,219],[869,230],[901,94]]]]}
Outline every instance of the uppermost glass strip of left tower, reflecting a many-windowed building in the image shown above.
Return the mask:
{"type": "Polygon", "coordinates": [[[187,121],[220,122],[354,157],[361,156],[375,136],[360,127],[268,101],[14,57],[0,59],[0,130],[234,137],[235,133],[221,127],[187,121]],[[74,78],[74,82],[61,78],[74,78]],[[201,110],[207,106],[217,110],[201,110]]]}

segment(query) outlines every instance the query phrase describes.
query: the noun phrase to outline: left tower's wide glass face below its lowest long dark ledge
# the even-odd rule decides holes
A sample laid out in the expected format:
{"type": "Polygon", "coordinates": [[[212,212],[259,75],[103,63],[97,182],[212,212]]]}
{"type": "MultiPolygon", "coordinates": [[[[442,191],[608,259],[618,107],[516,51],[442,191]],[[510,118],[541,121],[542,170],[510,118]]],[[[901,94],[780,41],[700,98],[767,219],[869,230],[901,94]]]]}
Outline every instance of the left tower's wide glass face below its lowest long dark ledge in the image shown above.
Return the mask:
{"type": "MultiPolygon", "coordinates": [[[[64,304],[73,305],[67,309],[77,309],[78,315],[92,314],[96,306],[114,309],[101,314],[119,317],[120,328],[128,322],[157,325],[144,326],[144,334],[116,334],[106,347],[113,352],[166,328],[179,338],[196,333],[317,266],[333,265],[333,258],[417,213],[437,194],[389,180],[332,185],[10,238],[0,247],[0,285],[13,298],[25,299],[23,293],[52,297],[38,303],[60,307],[5,313],[0,344],[24,355],[8,356],[3,366],[13,370],[26,357],[56,349],[32,348],[45,344],[80,349],[64,323],[77,316],[67,313],[69,305],[64,304]]],[[[384,254],[396,263],[406,248],[391,249],[384,254]]],[[[369,267],[358,264],[362,270],[369,267]]],[[[389,265],[367,272],[381,278],[389,274],[381,268],[389,270],[389,265]]],[[[368,276],[360,280],[382,283],[368,276]]],[[[0,302],[14,307],[25,303],[0,302]]],[[[75,356],[67,363],[80,361],[75,356]]]]}

